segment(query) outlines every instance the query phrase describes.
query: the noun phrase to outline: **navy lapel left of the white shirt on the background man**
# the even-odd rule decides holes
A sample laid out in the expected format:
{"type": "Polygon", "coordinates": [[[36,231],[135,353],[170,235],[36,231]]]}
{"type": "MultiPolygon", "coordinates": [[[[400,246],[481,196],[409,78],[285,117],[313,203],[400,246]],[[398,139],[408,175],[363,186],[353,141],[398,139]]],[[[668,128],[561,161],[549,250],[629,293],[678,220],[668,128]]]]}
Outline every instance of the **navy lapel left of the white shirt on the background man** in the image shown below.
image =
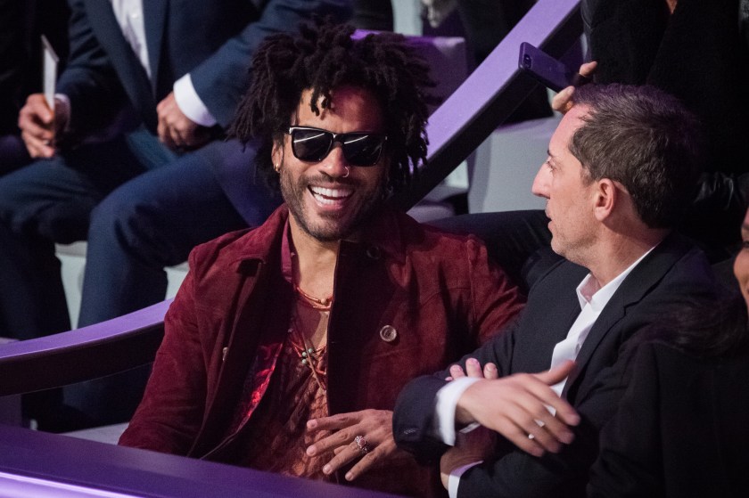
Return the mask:
{"type": "Polygon", "coordinates": [[[156,129],[156,102],[144,67],[122,35],[109,2],[87,0],[86,13],[96,39],[109,56],[120,82],[147,127],[156,129]]]}

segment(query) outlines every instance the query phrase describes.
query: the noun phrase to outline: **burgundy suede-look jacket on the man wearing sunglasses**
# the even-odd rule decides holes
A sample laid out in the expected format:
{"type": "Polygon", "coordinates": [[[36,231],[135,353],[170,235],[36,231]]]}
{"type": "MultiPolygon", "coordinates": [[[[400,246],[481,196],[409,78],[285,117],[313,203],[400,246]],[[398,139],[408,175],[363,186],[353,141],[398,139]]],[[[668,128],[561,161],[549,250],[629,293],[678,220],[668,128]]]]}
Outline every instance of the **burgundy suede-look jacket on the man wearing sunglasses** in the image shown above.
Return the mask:
{"type": "MultiPolygon", "coordinates": [[[[287,217],[282,206],[257,229],[193,249],[144,399],[119,444],[239,460],[241,448],[232,443],[244,425],[232,420],[240,405],[251,413],[266,392],[292,309],[280,264],[287,217]],[[251,389],[243,389],[245,382],[251,389]]],[[[331,414],[392,410],[408,380],[473,351],[523,306],[481,241],[441,233],[390,209],[372,216],[359,241],[342,241],[335,273],[331,414]]],[[[434,470],[399,458],[355,484],[431,494],[434,470]]]]}

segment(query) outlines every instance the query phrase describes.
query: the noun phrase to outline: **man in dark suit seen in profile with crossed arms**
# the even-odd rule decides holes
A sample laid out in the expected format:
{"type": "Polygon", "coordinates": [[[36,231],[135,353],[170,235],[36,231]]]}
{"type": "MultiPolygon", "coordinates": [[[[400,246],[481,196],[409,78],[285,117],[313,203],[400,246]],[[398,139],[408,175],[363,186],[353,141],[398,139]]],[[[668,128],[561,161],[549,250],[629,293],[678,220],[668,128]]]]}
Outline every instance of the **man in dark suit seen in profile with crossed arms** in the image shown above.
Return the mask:
{"type": "Polygon", "coordinates": [[[566,260],[531,288],[520,320],[472,355],[479,363],[464,359],[468,377],[444,380],[463,377],[454,366],[414,380],[395,409],[397,443],[424,459],[454,445],[465,424],[504,436],[489,448],[458,439],[445,453],[454,495],[584,494],[598,429],[621,396],[606,382],[621,345],[687,298],[716,292],[702,252],[671,232],[699,169],[695,119],[652,87],[583,86],[574,102],[532,188],[548,200],[551,246],[566,260]],[[490,379],[475,378],[481,365],[490,379]]]}

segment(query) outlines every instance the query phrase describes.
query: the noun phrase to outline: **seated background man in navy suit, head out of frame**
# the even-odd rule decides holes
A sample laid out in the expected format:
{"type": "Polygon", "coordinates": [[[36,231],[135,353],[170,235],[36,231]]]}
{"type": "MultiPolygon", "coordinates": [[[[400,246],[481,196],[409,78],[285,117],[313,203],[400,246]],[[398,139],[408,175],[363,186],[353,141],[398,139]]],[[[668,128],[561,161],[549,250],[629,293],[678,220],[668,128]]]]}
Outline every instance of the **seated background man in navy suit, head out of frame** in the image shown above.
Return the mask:
{"type": "Polygon", "coordinates": [[[344,0],[70,7],[55,109],[32,94],[20,113],[39,160],[0,179],[0,334],[19,339],[70,328],[53,242],[88,241],[79,317],[87,325],[163,299],[164,266],[263,221],[276,202],[255,181],[253,149],[224,140],[251,54],[313,13],[350,15],[344,0]],[[243,216],[220,181],[243,193],[243,216]]]}

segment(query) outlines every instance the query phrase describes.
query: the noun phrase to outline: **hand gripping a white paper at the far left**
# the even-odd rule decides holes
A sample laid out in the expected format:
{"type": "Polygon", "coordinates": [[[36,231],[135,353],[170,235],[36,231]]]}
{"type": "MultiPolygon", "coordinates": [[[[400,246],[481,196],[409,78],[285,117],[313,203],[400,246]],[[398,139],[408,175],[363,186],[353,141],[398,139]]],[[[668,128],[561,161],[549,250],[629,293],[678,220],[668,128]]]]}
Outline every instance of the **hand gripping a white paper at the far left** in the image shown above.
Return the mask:
{"type": "Polygon", "coordinates": [[[30,94],[18,114],[21,138],[32,158],[51,158],[54,155],[56,129],[63,126],[63,123],[55,123],[54,111],[47,105],[44,94],[30,94]]]}

